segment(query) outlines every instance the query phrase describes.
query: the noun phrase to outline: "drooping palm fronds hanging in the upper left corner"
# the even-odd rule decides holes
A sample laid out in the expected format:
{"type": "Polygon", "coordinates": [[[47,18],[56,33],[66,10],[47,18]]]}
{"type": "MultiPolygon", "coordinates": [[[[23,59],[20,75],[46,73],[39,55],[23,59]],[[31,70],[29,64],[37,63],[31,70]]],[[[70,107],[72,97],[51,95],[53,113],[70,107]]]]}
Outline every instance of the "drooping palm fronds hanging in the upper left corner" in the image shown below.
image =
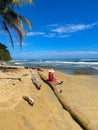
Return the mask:
{"type": "Polygon", "coordinates": [[[29,28],[32,28],[30,20],[15,11],[16,6],[21,7],[26,4],[33,4],[33,2],[32,0],[0,0],[0,25],[2,25],[4,32],[9,35],[12,47],[14,47],[13,31],[14,34],[18,34],[17,38],[19,39],[20,46],[22,46],[22,39],[27,34],[24,23],[29,28]]]}

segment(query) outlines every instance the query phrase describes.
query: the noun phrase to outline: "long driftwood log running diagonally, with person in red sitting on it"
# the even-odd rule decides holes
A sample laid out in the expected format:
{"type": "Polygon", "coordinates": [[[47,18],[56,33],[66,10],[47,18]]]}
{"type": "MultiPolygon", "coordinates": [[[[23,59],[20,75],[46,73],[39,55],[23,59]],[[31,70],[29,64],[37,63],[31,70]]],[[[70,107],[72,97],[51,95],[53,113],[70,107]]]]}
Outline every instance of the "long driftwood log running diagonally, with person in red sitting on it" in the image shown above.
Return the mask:
{"type": "Polygon", "coordinates": [[[42,73],[38,73],[41,77],[41,79],[46,82],[51,89],[53,90],[54,94],[56,95],[56,97],[58,98],[59,102],[61,103],[61,105],[63,106],[63,108],[65,110],[67,110],[70,115],[72,116],[72,118],[84,129],[84,130],[96,130],[91,123],[85,119],[85,117],[75,108],[73,108],[68,102],[67,100],[58,92],[57,88],[55,87],[56,85],[49,82],[47,80],[47,77],[45,75],[43,75],[42,73]]]}

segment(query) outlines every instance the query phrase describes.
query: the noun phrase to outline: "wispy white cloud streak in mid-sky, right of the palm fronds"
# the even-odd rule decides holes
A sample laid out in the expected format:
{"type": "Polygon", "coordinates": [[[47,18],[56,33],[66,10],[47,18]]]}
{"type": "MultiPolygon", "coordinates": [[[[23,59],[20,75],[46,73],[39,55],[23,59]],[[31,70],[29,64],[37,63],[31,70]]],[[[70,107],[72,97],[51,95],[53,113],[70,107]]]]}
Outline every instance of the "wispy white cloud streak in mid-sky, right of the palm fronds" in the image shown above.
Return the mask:
{"type": "Polygon", "coordinates": [[[91,24],[50,24],[43,27],[45,31],[35,31],[27,33],[27,36],[41,36],[48,38],[67,38],[72,35],[72,33],[78,31],[84,31],[88,29],[92,29],[98,25],[98,22],[91,24]]]}

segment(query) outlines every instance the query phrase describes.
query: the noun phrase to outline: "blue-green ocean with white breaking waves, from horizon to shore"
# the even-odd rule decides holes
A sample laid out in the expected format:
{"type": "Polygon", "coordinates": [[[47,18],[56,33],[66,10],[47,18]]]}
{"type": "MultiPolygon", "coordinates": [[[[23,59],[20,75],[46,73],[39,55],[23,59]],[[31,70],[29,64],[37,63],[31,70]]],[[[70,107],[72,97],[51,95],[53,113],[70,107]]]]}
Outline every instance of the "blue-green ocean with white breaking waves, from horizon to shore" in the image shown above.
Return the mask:
{"type": "Polygon", "coordinates": [[[12,60],[9,65],[53,68],[68,74],[98,75],[98,59],[12,60]]]}

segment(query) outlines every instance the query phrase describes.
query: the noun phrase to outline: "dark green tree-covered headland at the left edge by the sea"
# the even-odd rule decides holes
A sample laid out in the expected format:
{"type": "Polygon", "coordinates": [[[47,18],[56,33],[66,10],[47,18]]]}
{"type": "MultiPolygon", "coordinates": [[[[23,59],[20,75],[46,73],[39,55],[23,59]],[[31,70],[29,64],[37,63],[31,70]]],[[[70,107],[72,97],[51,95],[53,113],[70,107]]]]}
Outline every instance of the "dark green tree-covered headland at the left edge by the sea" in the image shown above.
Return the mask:
{"type": "Polygon", "coordinates": [[[7,47],[0,43],[0,60],[2,61],[9,61],[11,60],[11,56],[9,51],[7,50],[7,47]]]}

